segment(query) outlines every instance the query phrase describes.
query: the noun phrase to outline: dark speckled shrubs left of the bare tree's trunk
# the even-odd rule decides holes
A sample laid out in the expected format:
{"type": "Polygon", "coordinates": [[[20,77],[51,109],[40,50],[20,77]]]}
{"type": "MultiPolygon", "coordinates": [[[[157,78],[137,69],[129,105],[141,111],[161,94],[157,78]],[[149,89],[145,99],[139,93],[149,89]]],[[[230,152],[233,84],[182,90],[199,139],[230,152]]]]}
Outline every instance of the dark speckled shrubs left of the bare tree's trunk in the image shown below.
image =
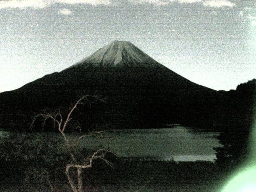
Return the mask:
{"type": "Polygon", "coordinates": [[[56,150],[58,144],[63,142],[60,139],[46,134],[17,132],[11,132],[9,136],[2,138],[0,180],[8,185],[63,179],[70,157],[67,150],[56,150]]]}

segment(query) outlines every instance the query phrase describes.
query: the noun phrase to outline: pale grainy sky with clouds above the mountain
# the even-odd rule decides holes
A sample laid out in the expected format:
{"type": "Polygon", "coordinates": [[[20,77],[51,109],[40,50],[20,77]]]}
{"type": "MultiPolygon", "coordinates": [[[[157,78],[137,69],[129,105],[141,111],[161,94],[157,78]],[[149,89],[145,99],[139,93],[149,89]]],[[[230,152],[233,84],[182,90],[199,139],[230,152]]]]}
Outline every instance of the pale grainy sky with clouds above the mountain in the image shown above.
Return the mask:
{"type": "Polygon", "coordinates": [[[130,41],[197,84],[256,78],[255,0],[1,0],[0,92],[130,41]]]}

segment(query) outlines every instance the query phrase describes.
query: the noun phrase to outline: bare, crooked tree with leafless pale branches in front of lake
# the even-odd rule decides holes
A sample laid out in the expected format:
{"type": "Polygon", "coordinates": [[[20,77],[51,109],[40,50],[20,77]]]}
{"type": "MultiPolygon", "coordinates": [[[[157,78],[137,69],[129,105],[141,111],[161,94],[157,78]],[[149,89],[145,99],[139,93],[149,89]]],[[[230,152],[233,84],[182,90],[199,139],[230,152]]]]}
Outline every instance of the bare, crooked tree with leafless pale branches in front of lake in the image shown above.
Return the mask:
{"type": "MultiPolygon", "coordinates": [[[[78,136],[78,138],[75,140],[73,145],[71,145],[70,140],[68,139],[68,137],[65,134],[65,130],[66,130],[66,127],[68,125],[68,122],[70,122],[70,120],[72,119],[72,118],[70,118],[70,116],[72,115],[74,110],[76,108],[78,108],[79,105],[84,105],[86,101],[91,102],[90,100],[88,100],[88,97],[89,97],[88,95],[87,96],[82,96],[82,98],[80,98],[76,102],[76,104],[74,104],[74,106],[72,106],[72,108],[70,109],[70,111],[67,114],[66,119],[64,119],[62,114],[60,112],[58,112],[55,115],[38,114],[37,116],[34,117],[34,120],[32,122],[32,126],[33,126],[35,120],[39,117],[42,117],[42,118],[44,118],[44,125],[46,123],[46,120],[48,120],[48,119],[52,120],[54,122],[54,124],[57,124],[58,131],[62,134],[62,137],[63,137],[63,139],[65,141],[65,144],[66,144],[66,148],[67,148],[67,150],[70,154],[70,157],[72,159],[72,164],[67,164],[66,165],[66,176],[68,178],[68,182],[69,182],[73,192],[82,192],[82,188],[83,188],[82,169],[91,168],[94,160],[101,159],[106,164],[108,164],[108,166],[113,168],[112,163],[109,162],[104,157],[104,154],[112,153],[109,150],[100,149],[100,150],[94,152],[94,154],[92,154],[92,156],[89,158],[89,163],[88,164],[79,164],[78,160],[77,160],[77,158],[76,158],[76,156],[75,156],[75,154],[72,150],[72,149],[74,149],[78,146],[78,144],[79,144],[80,140],[82,140],[82,138],[89,137],[89,136],[92,136],[92,135],[95,135],[95,134],[102,134],[102,131],[93,132],[93,133],[90,133],[90,134],[78,136]],[[77,170],[77,185],[76,185],[76,182],[73,180],[72,176],[70,175],[70,172],[69,172],[70,168],[76,168],[76,170],[77,170]]],[[[96,98],[96,97],[94,96],[94,98],[96,98]]],[[[96,98],[96,99],[100,100],[99,98],[96,98]]]]}

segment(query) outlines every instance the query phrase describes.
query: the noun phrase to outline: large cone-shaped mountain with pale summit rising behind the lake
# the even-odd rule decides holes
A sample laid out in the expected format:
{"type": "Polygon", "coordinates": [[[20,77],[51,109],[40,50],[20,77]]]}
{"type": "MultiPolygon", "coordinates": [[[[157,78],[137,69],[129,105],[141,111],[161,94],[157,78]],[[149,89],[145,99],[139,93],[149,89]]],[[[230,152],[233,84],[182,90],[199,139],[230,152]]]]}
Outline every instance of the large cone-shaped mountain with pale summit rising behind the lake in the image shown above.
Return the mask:
{"type": "Polygon", "coordinates": [[[61,72],[1,93],[0,125],[26,128],[33,115],[64,110],[84,94],[105,102],[77,113],[79,120],[106,128],[212,125],[223,95],[176,74],[130,42],[114,41],[61,72]]]}

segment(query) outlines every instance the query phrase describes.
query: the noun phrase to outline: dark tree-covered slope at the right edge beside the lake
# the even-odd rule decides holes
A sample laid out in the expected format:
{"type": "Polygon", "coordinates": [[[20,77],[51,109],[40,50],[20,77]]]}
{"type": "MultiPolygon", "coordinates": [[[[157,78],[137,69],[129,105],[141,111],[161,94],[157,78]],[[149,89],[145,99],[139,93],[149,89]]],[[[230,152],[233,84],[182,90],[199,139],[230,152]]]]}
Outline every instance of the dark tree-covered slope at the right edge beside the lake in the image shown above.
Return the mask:
{"type": "MultiPolygon", "coordinates": [[[[256,79],[227,92],[223,102],[223,129],[219,136],[221,148],[216,148],[217,163],[233,170],[250,156],[250,134],[256,120],[256,79]]],[[[255,128],[254,128],[255,129],[255,128]]]]}

